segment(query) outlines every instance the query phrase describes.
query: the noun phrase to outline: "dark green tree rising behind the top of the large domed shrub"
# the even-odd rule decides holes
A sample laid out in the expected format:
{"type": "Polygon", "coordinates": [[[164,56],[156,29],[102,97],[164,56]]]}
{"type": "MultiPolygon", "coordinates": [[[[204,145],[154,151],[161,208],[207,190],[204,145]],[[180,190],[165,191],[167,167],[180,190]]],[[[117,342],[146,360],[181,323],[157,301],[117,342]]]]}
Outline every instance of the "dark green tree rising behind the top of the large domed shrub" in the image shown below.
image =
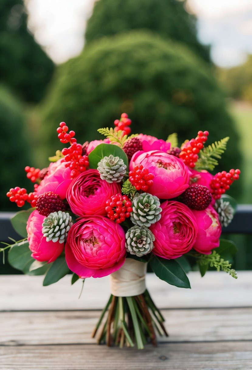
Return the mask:
{"type": "Polygon", "coordinates": [[[165,38],[186,44],[204,60],[210,47],[197,38],[196,17],[178,0],[99,0],[86,27],[86,43],[102,36],[147,29],[165,38]]]}

